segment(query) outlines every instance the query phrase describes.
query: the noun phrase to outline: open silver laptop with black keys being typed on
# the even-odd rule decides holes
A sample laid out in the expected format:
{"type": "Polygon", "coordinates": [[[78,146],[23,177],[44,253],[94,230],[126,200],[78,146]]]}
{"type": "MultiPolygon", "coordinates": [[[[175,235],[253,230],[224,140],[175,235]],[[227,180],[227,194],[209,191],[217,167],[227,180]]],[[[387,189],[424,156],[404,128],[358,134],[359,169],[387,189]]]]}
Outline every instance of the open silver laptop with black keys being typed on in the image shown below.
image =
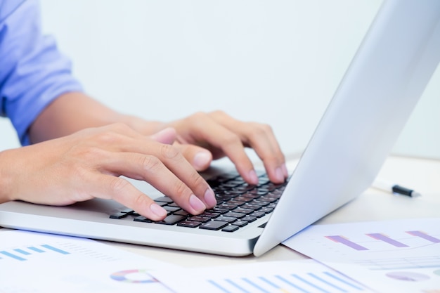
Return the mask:
{"type": "Polygon", "coordinates": [[[233,171],[214,169],[207,181],[219,204],[197,218],[136,181],[169,211],[167,221],[151,222],[117,202],[95,199],[67,207],[6,202],[0,226],[260,256],[370,186],[439,60],[440,1],[384,1],[285,184],[260,174],[261,186],[250,186],[233,171]]]}

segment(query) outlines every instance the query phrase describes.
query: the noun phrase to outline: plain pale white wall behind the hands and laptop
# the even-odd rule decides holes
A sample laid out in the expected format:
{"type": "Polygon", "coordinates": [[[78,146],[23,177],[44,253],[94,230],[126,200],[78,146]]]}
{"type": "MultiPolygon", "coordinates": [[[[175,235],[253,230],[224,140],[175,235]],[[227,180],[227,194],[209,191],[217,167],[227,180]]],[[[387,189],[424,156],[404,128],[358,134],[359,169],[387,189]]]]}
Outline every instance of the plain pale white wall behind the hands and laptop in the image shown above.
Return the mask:
{"type": "MultiPolygon", "coordinates": [[[[41,9],[86,91],[110,107],[164,121],[221,109],[271,124],[295,153],[381,3],[41,0],[41,9]]],[[[394,153],[440,158],[439,113],[437,70],[394,153]]],[[[8,120],[0,133],[0,150],[18,146],[8,120]]]]}

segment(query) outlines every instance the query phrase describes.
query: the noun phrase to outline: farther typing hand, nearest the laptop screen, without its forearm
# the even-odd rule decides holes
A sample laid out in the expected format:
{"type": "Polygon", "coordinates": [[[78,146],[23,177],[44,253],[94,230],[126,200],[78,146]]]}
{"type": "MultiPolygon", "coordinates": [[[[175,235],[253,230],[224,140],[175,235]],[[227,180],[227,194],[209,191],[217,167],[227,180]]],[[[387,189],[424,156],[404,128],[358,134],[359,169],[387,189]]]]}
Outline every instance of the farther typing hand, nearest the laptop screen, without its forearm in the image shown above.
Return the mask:
{"type": "Polygon", "coordinates": [[[242,122],[221,111],[198,112],[190,117],[167,124],[177,131],[176,148],[202,171],[212,159],[227,156],[248,183],[257,183],[257,174],[245,147],[253,148],[264,163],[268,177],[274,183],[287,178],[285,158],[270,126],[242,122]]]}

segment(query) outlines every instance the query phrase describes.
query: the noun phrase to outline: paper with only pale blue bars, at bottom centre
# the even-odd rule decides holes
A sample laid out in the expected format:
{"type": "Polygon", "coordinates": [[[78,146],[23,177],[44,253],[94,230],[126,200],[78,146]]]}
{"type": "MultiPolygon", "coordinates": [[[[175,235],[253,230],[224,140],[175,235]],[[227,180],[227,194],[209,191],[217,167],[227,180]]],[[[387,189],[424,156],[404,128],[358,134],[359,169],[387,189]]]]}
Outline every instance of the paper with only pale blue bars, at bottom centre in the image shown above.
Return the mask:
{"type": "Polygon", "coordinates": [[[373,292],[311,259],[189,268],[179,273],[155,271],[153,275],[179,293],[373,292]]]}

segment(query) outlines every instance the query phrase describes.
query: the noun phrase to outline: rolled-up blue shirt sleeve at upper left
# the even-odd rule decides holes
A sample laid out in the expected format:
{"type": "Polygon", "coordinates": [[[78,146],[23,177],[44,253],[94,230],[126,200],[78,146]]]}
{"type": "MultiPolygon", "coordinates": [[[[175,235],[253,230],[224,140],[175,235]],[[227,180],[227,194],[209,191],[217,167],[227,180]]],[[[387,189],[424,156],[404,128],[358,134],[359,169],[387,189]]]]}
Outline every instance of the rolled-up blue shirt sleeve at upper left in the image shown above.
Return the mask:
{"type": "Polygon", "coordinates": [[[54,39],[41,34],[38,2],[0,1],[0,115],[11,119],[22,145],[30,144],[39,113],[72,91],[82,86],[54,39]]]}

